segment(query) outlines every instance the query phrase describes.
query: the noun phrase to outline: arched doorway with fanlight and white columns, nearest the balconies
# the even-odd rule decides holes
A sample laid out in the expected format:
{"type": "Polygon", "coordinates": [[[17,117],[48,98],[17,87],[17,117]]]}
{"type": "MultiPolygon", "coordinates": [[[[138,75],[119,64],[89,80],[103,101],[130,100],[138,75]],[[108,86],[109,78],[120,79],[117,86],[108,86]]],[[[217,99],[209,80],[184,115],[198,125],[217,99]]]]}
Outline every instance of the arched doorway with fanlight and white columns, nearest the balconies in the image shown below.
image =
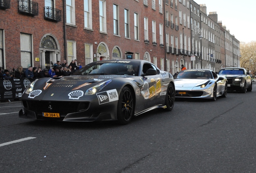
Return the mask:
{"type": "Polygon", "coordinates": [[[49,70],[54,63],[60,61],[60,46],[54,36],[43,36],[39,50],[42,68],[49,70]]]}

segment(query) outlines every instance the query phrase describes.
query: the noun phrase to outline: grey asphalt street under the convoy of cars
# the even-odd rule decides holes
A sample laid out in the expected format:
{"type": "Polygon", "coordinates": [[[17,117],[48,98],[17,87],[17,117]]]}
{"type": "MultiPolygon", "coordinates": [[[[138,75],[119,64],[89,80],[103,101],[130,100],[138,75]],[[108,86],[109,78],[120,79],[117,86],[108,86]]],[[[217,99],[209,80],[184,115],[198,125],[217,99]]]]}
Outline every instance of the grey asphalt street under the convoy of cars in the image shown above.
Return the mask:
{"type": "Polygon", "coordinates": [[[20,101],[0,103],[3,173],[256,172],[256,84],[227,98],[177,99],[128,125],[21,119],[20,101]]]}

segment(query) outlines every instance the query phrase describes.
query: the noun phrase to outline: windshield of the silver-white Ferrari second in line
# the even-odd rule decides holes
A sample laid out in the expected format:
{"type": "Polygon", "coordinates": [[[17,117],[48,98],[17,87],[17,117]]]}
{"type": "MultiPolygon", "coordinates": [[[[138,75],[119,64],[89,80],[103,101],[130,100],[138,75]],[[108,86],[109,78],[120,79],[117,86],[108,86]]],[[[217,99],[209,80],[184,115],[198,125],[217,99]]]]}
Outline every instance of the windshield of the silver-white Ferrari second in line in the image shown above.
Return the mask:
{"type": "Polygon", "coordinates": [[[178,73],[176,79],[213,79],[209,70],[183,70],[178,73]]]}

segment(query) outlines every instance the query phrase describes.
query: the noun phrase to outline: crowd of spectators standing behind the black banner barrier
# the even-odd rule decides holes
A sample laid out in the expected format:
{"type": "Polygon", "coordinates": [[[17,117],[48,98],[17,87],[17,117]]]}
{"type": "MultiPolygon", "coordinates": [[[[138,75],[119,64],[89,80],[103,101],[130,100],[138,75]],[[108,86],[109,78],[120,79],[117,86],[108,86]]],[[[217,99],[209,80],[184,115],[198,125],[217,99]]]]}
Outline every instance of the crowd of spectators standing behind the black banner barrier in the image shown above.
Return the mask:
{"type": "Polygon", "coordinates": [[[7,70],[2,69],[0,67],[0,78],[3,79],[11,79],[11,78],[43,78],[43,77],[63,77],[63,76],[70,76],[77,70],[82,68],[80,63],[76,65],[76,60],[72,60],[70,64],[63,61],[61,64],[60,61],[57,61],[53,66],[52,69],[42,69],[40,67],[32,67],[29,66],[26,70],[23,70],[23,66],[18,66],[17,69],[7,70]]]}

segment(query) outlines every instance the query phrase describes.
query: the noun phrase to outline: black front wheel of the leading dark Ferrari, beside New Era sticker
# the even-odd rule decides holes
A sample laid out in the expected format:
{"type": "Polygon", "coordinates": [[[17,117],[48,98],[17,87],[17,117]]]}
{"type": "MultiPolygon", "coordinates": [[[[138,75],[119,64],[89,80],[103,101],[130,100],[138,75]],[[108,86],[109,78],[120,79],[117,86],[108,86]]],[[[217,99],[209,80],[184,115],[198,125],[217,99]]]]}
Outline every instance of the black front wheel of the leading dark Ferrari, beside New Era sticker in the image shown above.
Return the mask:
{"type": "Polygon", "coordinates": [[[130,123],[134,116],[135,99],[129,87],[124,87],[120,93],[117,108],[117,118],[121,125],[130,123]]]}

